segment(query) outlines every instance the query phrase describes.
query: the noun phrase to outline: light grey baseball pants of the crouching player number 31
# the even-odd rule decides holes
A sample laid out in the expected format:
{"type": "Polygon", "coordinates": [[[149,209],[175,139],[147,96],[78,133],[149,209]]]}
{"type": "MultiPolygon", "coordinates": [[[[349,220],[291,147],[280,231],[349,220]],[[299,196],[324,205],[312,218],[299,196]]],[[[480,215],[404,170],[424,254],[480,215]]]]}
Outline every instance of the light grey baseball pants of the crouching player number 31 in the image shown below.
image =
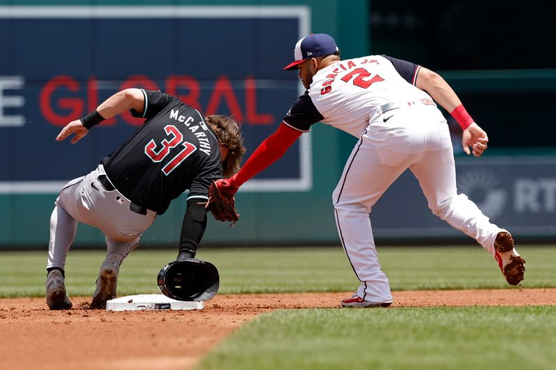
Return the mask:
{"type": "Polygon", "coordinates": [[[64,269],[77,222],[102,230],[108,247],[106,258],[119,264],[138,246],[141,234],[154,222],[156,212],[147,210],[147,215],[133,212],[129,208],[129,199],[117,190],[104,189],[99,176],[106,176],[102,165],[87,176],[71,180],[60,191],[50,217],[47,269],[64,269]]]}

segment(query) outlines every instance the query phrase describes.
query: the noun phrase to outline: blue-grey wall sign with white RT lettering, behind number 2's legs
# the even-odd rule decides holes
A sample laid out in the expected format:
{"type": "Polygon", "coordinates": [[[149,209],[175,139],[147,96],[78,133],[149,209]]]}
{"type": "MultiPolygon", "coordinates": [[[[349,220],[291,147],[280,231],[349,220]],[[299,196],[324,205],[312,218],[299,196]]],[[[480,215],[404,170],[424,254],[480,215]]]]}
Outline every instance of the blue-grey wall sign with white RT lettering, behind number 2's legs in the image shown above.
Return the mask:
{"type": "MultiPolygon", "coordinates": [[[[493,224],[518,235],[556,235],[556,157],[456,158],[457,190],[493,224]]],[[[406,171],[371,212],[377,237],[463,235],[432,215],[406,171]]]]}

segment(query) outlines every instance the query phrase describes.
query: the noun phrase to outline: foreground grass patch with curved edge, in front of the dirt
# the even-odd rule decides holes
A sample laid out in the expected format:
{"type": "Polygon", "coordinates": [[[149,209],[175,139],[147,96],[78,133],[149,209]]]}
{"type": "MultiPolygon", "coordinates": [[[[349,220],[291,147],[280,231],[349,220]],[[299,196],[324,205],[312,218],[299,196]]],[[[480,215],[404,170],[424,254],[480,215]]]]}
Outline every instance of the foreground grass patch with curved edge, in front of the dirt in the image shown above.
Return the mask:
{"type": "Polygon", "coordinates": [[[556,307],[281,310],[196,369],[554,369],[556,307]]]}

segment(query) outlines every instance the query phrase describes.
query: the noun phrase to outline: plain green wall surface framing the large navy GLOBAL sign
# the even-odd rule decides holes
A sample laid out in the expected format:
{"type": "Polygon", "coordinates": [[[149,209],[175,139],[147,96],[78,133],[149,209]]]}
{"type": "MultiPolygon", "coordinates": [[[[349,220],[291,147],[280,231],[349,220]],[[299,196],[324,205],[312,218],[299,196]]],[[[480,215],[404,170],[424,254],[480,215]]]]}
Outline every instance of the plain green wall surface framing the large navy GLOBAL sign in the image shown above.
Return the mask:
{"type": "MultiPolygon", "coordinates": [[[[310,31],[326,32],[334,37],[345,56],[357,56],[368,51],[368,11],[366,1],[306,0],[306,1],[0,1],[0,6],[304,6],[310,12],[310,31]]],[[[9,17],[0,19],[8,24],[9,17]]],[[[0,23],[1,25],[1,23],[0,23]]],[[[0,27],[0,32],[3,28],[0,27]]],[[[2,35],[10,37],[10,35],[2,35]]],[[[268,42],[275,42],[268,40],[268,42]]],[[[288,47],[293,56],[295,41],[288,47]]],[[[94,49],[95,45],[90,45],[94,49]]],[[[262,62],[265,62],[263,60],[262,62]]],[[[40,64],[40,63],[39,63],[40,64]]],[[[217,72],[215,72],[217,73],[217,72]]],[[[0,76],[6,73],[0,70],[0,76]]],[[[288,96],[293,102],[297,94],[288,96]]],[[[38,101],[26,102],[38,104],[38,101]]],[[[287,112],[286,104],[280,108],[287,112]]],[[[0,128],[0,133],[2,128],[0,128]]],[[[307,134],[305,134],[307,135],[307,134]]],[[[331,128],[317,125],[311,130],[311,188],[293,192],[240,192],[237,207],[240,221],[230,228],[209,216],[203,244],[328,244],[337,240],[332,208],[332,190],[345,162],[345,137],[331,128]]],[[[15,134],[14,134],[15,136],[15,134]]],[[[260,142],[260,141],[259,141],[260,142]]],[[[258,142],[256,143],[258,144],[258,142]]],[[[252,145],[254,146],[254,145],[252,145]]],[[[250,148],[251,150],[254,148],[250,148]]],[[[65,149],[60,149],[60,151],[65,149]]],[[[58,159],[50,163],[53,171],[67,166],[58,159]]],[[[89,169],[87,168],[86,171],[89,169]]],[[[83,172],[82,174],[85,174],[83,172]]],[[[82,175],[82,174],[77,174],[82,175]]],[[[46,248],[49,218],[56,200],[50,194],[0,194],[0,248],[41,246],[46,248]]],[[[170,209],[158,217],[147,230],[145,246],[177,244],[184,197],[172,202],[170,209]]],[[[75,245],[99,246],[104,243],[101,233],[89,226],[79,225],[75,245]]]]}

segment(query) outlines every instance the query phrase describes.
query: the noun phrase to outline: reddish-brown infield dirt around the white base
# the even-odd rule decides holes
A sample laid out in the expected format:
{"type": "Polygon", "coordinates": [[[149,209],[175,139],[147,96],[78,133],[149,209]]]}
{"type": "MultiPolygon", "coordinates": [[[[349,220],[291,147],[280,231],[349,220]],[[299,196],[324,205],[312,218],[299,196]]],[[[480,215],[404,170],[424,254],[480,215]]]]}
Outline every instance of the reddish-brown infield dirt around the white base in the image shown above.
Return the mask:
{"type": "MultiPolygon", "coordinates": [[[[263,312],[339,308],[348,293],[218,295],[199,311],[49,311],[44,298],[0,299],[0,369],[189,369],[263,312]]],[[[556,305],[556,289],[394,292],[392,308],[556,305]]],[[[388,310],[391,310],[389,308],[388,310]]]]}

